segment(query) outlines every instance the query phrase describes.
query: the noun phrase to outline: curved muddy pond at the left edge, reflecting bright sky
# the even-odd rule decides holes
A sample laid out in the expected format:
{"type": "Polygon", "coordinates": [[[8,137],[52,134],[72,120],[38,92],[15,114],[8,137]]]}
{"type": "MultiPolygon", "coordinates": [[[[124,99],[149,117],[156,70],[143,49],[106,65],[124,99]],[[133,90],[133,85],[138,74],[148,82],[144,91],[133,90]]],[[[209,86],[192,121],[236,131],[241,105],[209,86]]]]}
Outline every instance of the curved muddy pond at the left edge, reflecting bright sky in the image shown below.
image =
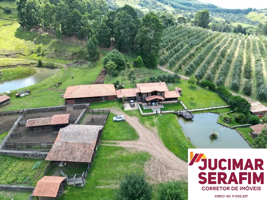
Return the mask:
{"type": "Polygon", "coordinates": [[[16,90],[19,88],[24,88],[29,85],[33,85],[35,83],[41,82],[42,80],[56,74],[59,71],[59,69],[49,69],[49,68],[40,68],[40,67],[34,67],[34,68],[36,69],[37,72],[31,76],[15,79],[11,81],[0,82],[0,93],[11,91],[11,90],[16,90]]]}

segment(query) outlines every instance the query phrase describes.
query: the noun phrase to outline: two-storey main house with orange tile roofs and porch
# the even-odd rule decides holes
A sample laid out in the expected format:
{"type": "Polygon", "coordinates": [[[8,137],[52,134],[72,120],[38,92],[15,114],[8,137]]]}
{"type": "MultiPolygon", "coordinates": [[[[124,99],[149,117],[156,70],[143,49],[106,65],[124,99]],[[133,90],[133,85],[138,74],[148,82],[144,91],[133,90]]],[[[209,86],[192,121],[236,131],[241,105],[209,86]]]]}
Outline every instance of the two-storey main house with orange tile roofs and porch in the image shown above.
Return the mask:
{"type": "Polygon", "coordinates": [[[133,89],[119,89],[116,91],[118,98],[123,96],[127,100],[136,100],[137,102],[147,103],[148,105],[157,103],[175,103],[180,97],[181,89],[169,91],[165,82],[157,83],[137,83],[133,89]]]}

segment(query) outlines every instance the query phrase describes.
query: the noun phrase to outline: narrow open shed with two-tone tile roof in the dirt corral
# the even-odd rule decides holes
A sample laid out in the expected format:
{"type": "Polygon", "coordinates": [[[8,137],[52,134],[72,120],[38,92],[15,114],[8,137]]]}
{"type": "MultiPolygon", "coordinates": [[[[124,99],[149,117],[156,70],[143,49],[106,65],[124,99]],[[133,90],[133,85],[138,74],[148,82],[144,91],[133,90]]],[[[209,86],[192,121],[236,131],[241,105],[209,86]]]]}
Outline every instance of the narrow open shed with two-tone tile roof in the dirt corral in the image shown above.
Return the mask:
{"type": "Polygon", "coordinates": [[[70,114],[53,115],[52,117],[41,117],[35,119],[28,119],[25,127],[31,127],[32,130],[46,130],[53,128],[54,131],[59,131],[69,125],[70,114]]]}

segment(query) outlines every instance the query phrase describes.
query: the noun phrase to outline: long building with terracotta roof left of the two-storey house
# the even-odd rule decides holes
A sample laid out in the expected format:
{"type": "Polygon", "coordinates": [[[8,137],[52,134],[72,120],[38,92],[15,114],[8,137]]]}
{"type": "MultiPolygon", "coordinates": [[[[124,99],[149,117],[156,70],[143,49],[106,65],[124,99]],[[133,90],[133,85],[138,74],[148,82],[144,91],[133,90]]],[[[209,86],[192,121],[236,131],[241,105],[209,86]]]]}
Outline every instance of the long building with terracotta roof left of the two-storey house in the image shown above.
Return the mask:
{"type": "Polygon", "coordinates": [[[92,84],[69,86],[64,94],[66,104],[84,104],[96,101],[115,100],[113,84],[92,84]]]}

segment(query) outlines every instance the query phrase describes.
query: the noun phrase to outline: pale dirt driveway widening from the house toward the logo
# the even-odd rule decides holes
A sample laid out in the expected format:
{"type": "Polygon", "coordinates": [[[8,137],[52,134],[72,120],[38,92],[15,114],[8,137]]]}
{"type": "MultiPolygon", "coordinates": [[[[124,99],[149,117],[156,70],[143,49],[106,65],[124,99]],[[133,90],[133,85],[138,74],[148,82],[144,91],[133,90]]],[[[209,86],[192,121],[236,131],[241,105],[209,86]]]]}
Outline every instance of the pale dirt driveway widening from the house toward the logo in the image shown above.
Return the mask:
{"type": "MultiPolygon", "coordinates": [[[[109,109],[109,108],[106,108],[109,109]]],[[[121,111],[110,109],[110,112],[120,115],[121,111]]],[[[137,141],[114,141],[116,145],[129,147],[138,151],[146,151],[152,156],[145,164],[145,173],[151,177],[151,182],[157,183],[165,180],[187,180],[187,163],[175,156],[161,142],[159,136],[145,128],[137,119],[124,114],[126,121],[134,127],[140,138],[137,141]]],[[[110,142],[110,141],[109,141],[110,142]]]]}

